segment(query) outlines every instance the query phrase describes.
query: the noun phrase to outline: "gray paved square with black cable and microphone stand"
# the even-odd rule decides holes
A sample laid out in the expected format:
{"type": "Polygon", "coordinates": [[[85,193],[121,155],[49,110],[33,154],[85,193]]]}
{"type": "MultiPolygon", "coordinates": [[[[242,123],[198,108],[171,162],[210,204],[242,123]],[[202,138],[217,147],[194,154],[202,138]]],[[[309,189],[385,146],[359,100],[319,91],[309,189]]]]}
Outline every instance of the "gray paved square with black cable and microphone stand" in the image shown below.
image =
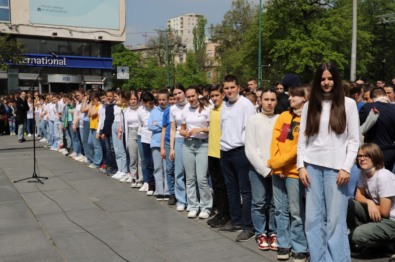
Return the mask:
{"type": "Polygon", "coordinates": [[[253,239],[235,242],[237,232],[219,233],[38,141],[36,173],[49,179],[13,183],[33,174],[33,141],[26,139],[0,137],[0,261],[277,261],[253,239]]]}

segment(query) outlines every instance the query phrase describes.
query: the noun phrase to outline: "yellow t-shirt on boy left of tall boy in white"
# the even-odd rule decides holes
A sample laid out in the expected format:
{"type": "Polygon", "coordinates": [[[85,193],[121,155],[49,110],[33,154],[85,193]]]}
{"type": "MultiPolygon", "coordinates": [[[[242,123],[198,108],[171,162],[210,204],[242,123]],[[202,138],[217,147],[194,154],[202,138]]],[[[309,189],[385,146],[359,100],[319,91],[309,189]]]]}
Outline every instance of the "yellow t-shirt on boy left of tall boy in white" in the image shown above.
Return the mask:
{"type": "Polygon", "coordinates": [[[210,110],[210,126],[208,127],[208,156],[220,158],[219,139],[222,132],[219,128],[219,119],[221,116],[221,107],[210,110]]]}

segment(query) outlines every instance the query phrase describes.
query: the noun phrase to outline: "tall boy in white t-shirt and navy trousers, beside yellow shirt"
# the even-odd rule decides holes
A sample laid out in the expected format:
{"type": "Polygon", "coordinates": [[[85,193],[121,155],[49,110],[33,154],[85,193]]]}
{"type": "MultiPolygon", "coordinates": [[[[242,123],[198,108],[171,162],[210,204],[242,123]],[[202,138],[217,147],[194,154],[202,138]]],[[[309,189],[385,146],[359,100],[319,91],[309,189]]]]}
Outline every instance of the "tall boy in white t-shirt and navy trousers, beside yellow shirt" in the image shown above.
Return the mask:
{"type": "Polygon", "coordinates": [[[229,101],[221,108],[219,127],[222,135],[219,145],[221,167],[229,198],[230,223],[218,228],[218,232],[242,231],[236,237],[236,241],[244,242],[255,236],[251,217],[250,162],[244,146],[247,120],[256,111],[250,100],[239,95],[240,85],[235,76],[225,76],[222,86],[229,101]],[[240,195],[243,198],[243,206],[240,195]]]}

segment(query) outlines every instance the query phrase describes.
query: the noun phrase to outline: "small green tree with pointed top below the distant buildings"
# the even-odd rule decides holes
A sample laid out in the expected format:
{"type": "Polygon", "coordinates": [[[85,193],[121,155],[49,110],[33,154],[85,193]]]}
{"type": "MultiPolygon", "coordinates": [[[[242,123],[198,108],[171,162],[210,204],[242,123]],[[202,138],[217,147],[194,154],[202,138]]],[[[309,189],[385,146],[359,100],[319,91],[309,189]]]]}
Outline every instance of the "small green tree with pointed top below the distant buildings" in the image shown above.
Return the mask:
{"type": "Polygon", "coordinates": [[[206,84],[206,72],[198,65],[195,54],[189,51],[185,60],[185,66],[178,64],[176,66],[176,83],[184,86],[206,84]]]}

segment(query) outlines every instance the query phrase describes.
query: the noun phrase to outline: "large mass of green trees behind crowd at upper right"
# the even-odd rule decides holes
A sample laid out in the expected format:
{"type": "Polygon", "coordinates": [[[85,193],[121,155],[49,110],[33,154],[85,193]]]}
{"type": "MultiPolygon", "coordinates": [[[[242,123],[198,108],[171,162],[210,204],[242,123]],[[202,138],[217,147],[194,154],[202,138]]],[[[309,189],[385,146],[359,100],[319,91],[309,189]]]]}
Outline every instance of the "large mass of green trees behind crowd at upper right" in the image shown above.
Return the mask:
{"type": "MultiPolygon", "coordinates": [[[[259,7],[247,0],[233,1],[221,25],[211,25],[220,75],[239,77],[245,83],[258,78],[259,7]]],[[[382,32],[377,16],[395,13],[392,0],[359,0],[357,17],[357,77],[374,81],[381,77],[382,32]]],[[[315,68],[332,61],[350,77],[352,39],[352,1],[349,0],[268,0],[262,9],[263,80],[271,84],[287,73],[297,74],[302,82],[313,78],[315,68]]],[[[395,24],[386,26],[385,71],[395,75],[395,24]]]]}

